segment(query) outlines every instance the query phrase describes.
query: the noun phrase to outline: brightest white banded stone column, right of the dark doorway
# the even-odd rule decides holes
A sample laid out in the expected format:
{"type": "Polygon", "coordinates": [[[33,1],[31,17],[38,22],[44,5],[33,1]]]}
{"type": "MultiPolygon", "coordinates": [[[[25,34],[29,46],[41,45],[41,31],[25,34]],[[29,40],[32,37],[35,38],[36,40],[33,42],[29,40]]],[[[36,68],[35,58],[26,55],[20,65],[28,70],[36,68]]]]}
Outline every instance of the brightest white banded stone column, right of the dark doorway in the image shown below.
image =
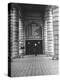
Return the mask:
{"type": "Polygon", "coordinates": [[[53,15],[52,9],[49,8],[48,18],[47,18],[47,46],[48,55],[54,55],[54,38],[53,38],[53,15]]]}

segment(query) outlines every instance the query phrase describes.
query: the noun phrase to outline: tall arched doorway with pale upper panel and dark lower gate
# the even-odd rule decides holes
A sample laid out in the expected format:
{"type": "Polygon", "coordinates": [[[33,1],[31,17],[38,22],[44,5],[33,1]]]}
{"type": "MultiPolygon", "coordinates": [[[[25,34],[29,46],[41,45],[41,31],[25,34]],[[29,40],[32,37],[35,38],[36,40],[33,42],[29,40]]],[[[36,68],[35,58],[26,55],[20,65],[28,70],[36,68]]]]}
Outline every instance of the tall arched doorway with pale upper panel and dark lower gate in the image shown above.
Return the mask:
{"type": "Polygon", "coordinates": [[[36,22],[28,24],[26,27],[26,54],[43,54],[42,51],[42,26],[36,22]]]}

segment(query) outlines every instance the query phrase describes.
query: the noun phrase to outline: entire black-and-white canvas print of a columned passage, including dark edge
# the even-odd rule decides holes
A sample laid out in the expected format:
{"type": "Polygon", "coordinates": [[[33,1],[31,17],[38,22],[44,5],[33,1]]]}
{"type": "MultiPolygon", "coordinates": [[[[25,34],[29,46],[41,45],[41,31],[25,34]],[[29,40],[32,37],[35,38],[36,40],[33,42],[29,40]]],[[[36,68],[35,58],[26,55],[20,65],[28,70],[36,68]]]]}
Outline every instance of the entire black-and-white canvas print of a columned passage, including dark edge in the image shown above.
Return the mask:
{"type": "Polygon", "coordinates": [[[8,10],[8,75],[58,74],[58,6],[9,3],[8,10]]]}

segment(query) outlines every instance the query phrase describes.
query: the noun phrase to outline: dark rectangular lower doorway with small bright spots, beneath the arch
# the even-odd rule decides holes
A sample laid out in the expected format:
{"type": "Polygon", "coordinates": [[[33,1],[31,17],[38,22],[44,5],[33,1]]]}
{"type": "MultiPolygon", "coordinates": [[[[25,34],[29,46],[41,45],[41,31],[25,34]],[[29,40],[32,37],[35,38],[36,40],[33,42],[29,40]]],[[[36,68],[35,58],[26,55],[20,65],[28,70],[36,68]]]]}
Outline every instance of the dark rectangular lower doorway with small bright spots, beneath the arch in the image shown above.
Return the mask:
{"type": "Polygon", "coordinates": [[[26,40],[26,55],[38,55],[42,52],[42,40],[26,40]]]}

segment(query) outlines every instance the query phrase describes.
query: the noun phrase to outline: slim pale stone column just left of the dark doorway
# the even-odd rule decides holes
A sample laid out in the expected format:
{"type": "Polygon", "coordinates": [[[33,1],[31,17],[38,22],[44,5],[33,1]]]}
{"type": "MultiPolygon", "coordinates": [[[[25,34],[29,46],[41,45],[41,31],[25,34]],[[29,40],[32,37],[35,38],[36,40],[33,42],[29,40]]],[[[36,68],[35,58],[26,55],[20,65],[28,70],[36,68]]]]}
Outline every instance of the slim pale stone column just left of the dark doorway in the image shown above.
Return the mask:
{"type": "Polygon", "coordinates": [[[19,56],[24,53],[24,31],[21,16],[19,17],[19,56]]]}

